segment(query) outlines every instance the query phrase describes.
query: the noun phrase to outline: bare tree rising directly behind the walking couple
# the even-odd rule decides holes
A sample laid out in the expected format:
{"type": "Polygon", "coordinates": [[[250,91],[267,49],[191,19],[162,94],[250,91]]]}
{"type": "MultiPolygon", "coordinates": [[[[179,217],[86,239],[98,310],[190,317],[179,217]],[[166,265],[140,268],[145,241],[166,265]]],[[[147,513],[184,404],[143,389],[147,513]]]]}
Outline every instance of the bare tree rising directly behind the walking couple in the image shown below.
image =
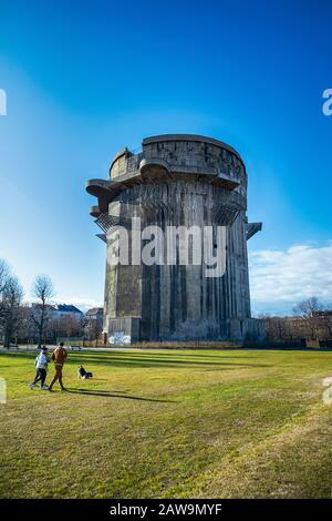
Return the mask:
{"type": "Polygon", "coordinates": [[[46,275],[38,275],[33,283],[32,295],[38,300],[37,305],[33,306],[32,319],[38,330],[38,345],[41,347],[45,336],[50,300],[54,296],[51,278],[46,275]]]}

